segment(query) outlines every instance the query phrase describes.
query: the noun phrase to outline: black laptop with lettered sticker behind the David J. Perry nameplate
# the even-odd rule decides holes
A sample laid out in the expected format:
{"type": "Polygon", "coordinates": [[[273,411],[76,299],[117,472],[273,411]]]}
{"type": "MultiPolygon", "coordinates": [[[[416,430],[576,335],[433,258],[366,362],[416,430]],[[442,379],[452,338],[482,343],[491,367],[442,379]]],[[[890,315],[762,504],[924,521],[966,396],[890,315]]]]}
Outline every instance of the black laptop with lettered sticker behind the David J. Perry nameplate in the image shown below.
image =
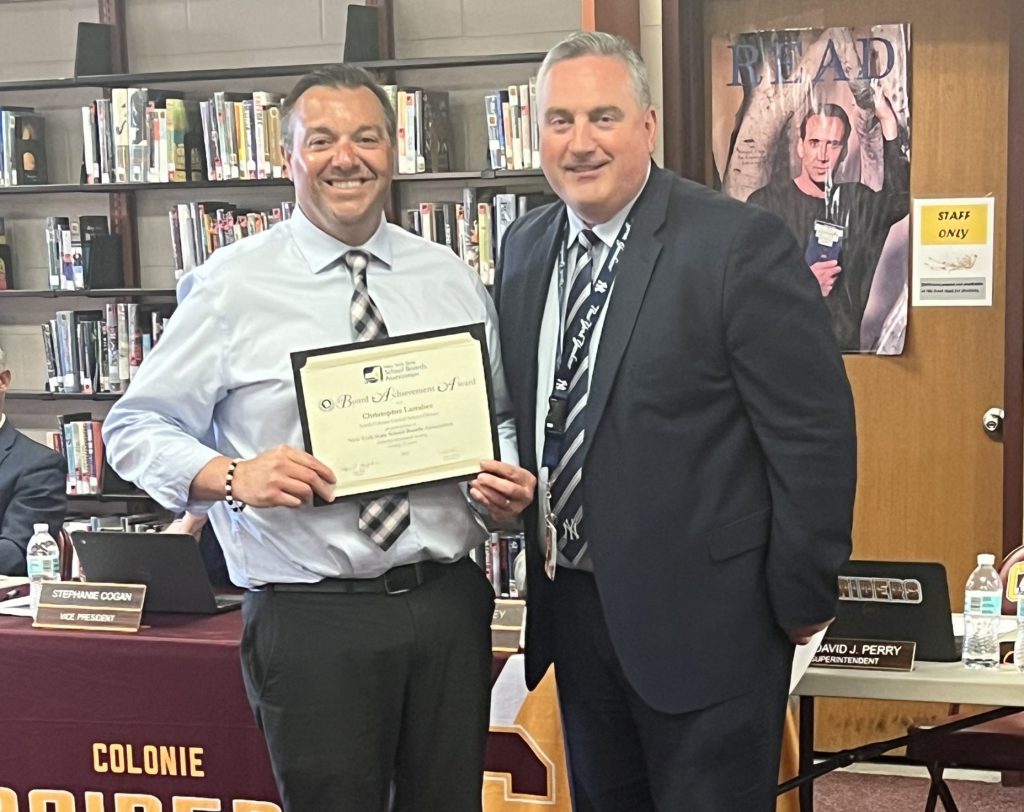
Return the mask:
{"type": "Polygon", "coordinates": [[[848,561],[840,570],[839,592],[825,640],[907,640],[918,644],[916,659],[959,659],[963,639],[953,637],[942,564],[848,561]]]}

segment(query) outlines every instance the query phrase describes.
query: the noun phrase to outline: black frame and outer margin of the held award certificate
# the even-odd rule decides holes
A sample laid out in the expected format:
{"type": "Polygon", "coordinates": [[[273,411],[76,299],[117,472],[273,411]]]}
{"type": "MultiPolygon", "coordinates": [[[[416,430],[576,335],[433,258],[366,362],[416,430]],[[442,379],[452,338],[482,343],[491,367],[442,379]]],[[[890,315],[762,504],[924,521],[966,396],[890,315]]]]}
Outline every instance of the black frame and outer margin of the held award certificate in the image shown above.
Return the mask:
{"type": "MultiPolygon", "coordinates": [[[[486,417],[488,421],[488,431],[487,435],[489,438],[488,447],[480,447],[480,454],[477,460],[473,461],[473,467],[470,470],[468,463],[467,466],[459,473],[452,474],[447,471],[438,472],[437,476],[424,476],[423,468],[418,467],[415,473],[410,474],[410,481],[401,482],[397,484],[389,484],[387,487],[373,487],[372,484],[367,489],[362,490],[352,490],[351,483],[352,479],[344,480],[343,476],[339,472],[335,471],[335,476],[338,477],[338,486],[342,488],[343,493],[338,494],[338,499],[369,499],[377,496],[382,496],[384,494],[392,494],[397,490],[409,490],[416,487],[422,487],[425,485],[436,485],[441,482],[449,481],[464,481],[466,479],[472,479],[476,476],[478,468],[476,464],[479,460],[483,459],[500,459],[500,447],[498,444],[498,427],[495,419],[495,394],[494,394],[494,383],[490,380],[490,360],[489,354],[487,352],[487,342],[486,333],[482,323],[466,325],[463,327],[446,328],[444,330],[431,330],[422,333],[414,333],[404,336],[397,336],[394,338],[378,339],[375,341],[357,341],[351,344],[339,344],[333,347],[322,347],[318,349],[303,350],[299,352],[291,353],[292,359],[292,375],[295,380],[295,391],[298,399],[299,408],[299,421],[302,425],[302,441],[305,446],[306,452],[323,460],[325,463],[328,462],[325,456],[317,455],[316,450],[313,447],[312,441],[312,430],[310,428],[310,419],[308,414],[308,409],[310,404],[307,403],[307,398],[309,393],[306,392],[305,386],[303,384],[302,370],[307,366],[307,362],[311,359],[319,358],[327,355],[344,355],[350,352],[359,352],[365,354],[367,350],[372,350],[374,348],[382,348],[387,350],[393,350],[396,347],[400,347],[403,344],[414,344],[417,342],[431,342],[434,339],[444,339],[452,336],[465,335],[476,343],[480,352],[480,362],[483,372],[483,390],[486,394],[486,417]]],[[[441,343],[441,342],[438,342],[441,343]]],[[[425,348],[429,349],[429,348],[425,348]]],[[[385,355],[393,355],[393,352],[382,353],[385,355]]],[[[352,365],[359,364],[359,361],[352,361],[352,365]]],[[[366,375],[366,370],[364,371],[366,375]]],[[[375,382],[376,383],[376,382],[375,382]]],[[[415,385],[415,384],[411,384],[415,385]]],[[[475,387],[479,388],[479,387],[475,387]]],[[[482,405],[482,404],[481,404],[482,405]]],[[[317,408],[317,407],[313,407],[317,408]]],[[[331,410],[333,405],[328,404],[327,399],[322,400],[322,405],[319,407],[322,411],[331,410]]],[[[482,410],[481,410],[482,411],[482,410]]],[[[354,415],[354,413],[353,413],[354,415]]],[[[372,441],[368,441],[368,447],[374,445],[372,441]]],[[[380,447],[381,443],[377,443],[377,447],[380,447]]],[[[393,474],[388,474],[388,478],[392,479],[393,474]]],[[[372,483],[373,478],[368,479],[368,483],[372,483]]],[[[313,498],[314,505],[325,505],[326,503],[323,499],[317,496],[313,498]]]]}

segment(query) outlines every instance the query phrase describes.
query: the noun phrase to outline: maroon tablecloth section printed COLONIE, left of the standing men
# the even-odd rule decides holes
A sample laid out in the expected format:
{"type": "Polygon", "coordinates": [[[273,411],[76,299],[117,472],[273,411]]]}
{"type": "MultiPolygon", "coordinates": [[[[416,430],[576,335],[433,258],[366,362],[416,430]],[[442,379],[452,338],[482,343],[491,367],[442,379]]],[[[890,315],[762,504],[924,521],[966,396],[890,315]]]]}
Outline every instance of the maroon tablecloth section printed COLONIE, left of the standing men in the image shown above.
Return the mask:
{"type": "Polygon", "coordinates": [[[147,796],[144,812],[171,810],[175,797],[276,812],[242,686],[241,622],[237,611],[153,615],[137,634],[119,634],[0,616],[0,809],[28,810],[30,790],[49,789],[74,799],[55,795],[58,812],[85,809],[86,792],[102,794],[105,810],[121,793],[147,796]]]}

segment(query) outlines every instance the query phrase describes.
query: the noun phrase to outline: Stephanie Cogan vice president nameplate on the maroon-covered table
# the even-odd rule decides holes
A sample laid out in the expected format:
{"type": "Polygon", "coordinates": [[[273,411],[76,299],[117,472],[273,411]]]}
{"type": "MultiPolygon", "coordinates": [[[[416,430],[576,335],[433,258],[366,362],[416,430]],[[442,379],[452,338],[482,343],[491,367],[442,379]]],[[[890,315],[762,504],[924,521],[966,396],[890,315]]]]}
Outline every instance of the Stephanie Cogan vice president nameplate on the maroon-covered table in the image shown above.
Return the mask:
{"type": "Polygon", "coordinates": [[[38,629],[137,632],[144,600],[144,584],[52,582],[43,584],[32,625],[38,629]]]}

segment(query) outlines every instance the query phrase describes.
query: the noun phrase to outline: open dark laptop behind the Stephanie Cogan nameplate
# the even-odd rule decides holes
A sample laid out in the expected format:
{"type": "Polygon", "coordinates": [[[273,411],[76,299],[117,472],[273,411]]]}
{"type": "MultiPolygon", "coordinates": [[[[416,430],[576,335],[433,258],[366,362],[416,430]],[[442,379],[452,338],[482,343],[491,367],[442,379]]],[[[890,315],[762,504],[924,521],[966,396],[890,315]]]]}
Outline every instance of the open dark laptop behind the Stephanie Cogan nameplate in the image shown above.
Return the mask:
{"type": "Polygon", "coordinates": [[[216,595],[191,536],[164,532],[72,533],[86,581],[145,584],[144,611],[216,614],[241,595],[216,595]]]}

